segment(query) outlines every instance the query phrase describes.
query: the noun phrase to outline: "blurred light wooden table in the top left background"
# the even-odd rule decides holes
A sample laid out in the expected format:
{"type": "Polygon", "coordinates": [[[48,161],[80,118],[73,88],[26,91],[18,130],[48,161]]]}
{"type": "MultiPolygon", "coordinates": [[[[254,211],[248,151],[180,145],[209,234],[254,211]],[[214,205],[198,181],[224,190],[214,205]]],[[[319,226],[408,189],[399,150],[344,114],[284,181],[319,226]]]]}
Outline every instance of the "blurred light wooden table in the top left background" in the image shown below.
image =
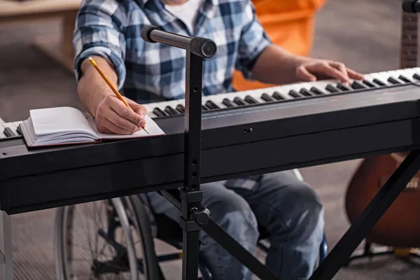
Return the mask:
{"type": "Polygon", "coordinates": [[[73,72],[73,29],[80,3],[81,0],[0,0],[0,24],[62,18],[61,36],[40,36],[34,45],[73,72]]]}

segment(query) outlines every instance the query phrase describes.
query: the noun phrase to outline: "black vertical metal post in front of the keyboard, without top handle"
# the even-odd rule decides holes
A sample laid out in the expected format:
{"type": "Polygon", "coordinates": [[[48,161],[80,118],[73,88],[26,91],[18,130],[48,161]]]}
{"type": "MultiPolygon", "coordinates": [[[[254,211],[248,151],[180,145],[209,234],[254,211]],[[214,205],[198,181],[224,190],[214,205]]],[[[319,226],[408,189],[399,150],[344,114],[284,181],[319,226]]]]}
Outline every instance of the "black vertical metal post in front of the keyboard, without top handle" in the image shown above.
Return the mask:
{"type": "Polygon", "coordinates": [[[202,209],[200,191],[201,104],[203,58],[186,52],[186,112],[184,140],[184,186],[181,190],[183,228],[183,280],[197,280],[201,226],[193,220],[193,212],[202,209]]]}

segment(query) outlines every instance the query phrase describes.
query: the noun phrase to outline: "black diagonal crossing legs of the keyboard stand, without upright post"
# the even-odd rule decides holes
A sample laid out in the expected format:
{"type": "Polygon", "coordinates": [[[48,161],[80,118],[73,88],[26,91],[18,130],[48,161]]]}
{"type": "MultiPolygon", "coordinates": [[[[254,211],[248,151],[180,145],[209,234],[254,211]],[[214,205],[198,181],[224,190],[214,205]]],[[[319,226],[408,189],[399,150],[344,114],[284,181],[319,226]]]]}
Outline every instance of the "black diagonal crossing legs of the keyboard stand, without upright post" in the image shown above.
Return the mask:
{"type": "MultiPolygon", "coordinates": [[[[337,245],[327,255],[321,265],[314,271],[309,280],[326,280],[332,279],[338,270],[346,265],[351,253],[356,250],[366,235],[374,228],[374,225],[380,220],[404,190],[407,183],[420,169],[420,151],[412,151],[409,153],[400,167],[395,170],[393,175],[388,179],[385,185],[379,190],[379,193],[367,205],[365,210],[360,214],[358,219],[351,225],[349,230],[339,240],[337,245]]],[[[174,190],[162,191],[162,195],[167,197],[178,209],[181,210],[180,194],[174,193],[174,190]]],[[[209,236],[215,239],[226,251],[230,252],[242,264],[262,280],[278,279],[272,272],[265,267],[254,255],[246,251],[235,239],[230,237],[227,232],[220,228],[214,221],[209,219],[207,224],[202,225],[203,230],[209,236]]],[[[186,247],[183,247],[186,250],[186,247]]],[[[187,252],[188,253],[188,252],[187,252]]],[[[189,256],[190,257],[190,256],[189,256]]],[[[185,263],[183,263],[185,267],[185,263]]],[[[193,267],[188,267],[193,269],[193,267]]],[[[195,267],[194,267],[195,269],[195,267]]],[[[197,279],[197,278],[195,278],[197,279]]]]}

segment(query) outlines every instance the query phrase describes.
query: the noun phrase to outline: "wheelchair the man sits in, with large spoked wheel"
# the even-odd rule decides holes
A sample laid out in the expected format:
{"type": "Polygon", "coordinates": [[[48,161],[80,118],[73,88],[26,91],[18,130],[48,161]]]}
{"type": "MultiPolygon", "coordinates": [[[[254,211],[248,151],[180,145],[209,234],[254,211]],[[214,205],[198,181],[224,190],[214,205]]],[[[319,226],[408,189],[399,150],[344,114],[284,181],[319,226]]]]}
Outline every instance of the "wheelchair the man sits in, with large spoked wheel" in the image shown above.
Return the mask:
{"type": "MultiPolygon", "coordinates": [[[[303,181],[300,172],[293,171],[303,181]]],[[[179,224],[165,215],[154,214],[145,195],[58,208],[54,227],[57,280],[164,280],[160,263],[182,258],[179,224]],[[86,211],[78,214],[82,210],[86,211]],[[176,253],[158,255],[155,239],[174,246],[176,253]]],[[[259,230],[259,251],[267,253],[268,233],[264,228],[259,230]]],[[[327,254],[328,243],[324,235],[318,263],[327,254]]],[[[199,258],[199,269],[200,279],[212,279],[202,258],[199,258]]]]}

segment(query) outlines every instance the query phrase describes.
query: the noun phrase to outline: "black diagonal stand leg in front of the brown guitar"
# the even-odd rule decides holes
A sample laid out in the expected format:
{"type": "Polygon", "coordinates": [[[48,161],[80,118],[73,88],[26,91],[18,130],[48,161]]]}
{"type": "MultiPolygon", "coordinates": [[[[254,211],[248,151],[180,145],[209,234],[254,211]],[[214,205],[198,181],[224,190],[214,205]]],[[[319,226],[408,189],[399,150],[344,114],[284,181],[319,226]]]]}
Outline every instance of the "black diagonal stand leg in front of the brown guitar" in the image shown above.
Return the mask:
{"type": "Polygon", "coordinates": [[[379,193],[375,195],[309,280],[332,279],[339,268],[346,264],[351,253],[363,241],[370,230],[374,228],[374,225],[385,214],[386,210],[388,210],[419,169],[420,151],[412,151],[401,163],[400,167],[395,170],[391,178],[386,181],[379,193]]]}

